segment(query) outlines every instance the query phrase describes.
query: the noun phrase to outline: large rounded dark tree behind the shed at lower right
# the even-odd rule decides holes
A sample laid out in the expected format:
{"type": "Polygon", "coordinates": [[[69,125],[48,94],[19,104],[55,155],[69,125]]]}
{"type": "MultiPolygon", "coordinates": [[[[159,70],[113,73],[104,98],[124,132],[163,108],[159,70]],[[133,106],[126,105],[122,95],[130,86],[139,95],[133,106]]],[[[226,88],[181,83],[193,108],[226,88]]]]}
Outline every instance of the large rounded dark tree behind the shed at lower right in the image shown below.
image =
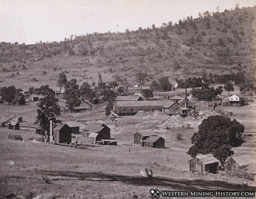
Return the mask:
{"type": "Polygon", "coordinates": [[[195,157],[198,154],[212,153],[223,165],[227,157],[234,152],[232,147],[241,144],[241,135],[244,133],[244,126],[238,121],[231,120],[221,115],[209,116],[204,119],[194,133],[188,154],[195,157]]]}

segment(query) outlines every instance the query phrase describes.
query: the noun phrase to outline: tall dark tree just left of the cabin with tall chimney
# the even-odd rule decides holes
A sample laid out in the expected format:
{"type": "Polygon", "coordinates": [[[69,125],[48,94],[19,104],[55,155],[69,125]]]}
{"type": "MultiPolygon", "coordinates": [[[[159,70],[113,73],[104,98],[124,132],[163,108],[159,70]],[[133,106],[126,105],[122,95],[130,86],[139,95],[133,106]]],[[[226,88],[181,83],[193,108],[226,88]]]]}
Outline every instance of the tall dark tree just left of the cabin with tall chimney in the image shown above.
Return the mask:
{"type": "Polygon", "coordinates": [[[37,104],[37,117],[35,123],[38,124],[40,131],[38,132],[42,136],[50,136],[49,131],[49,120],[60,115],[60,107],[58,104],[59,99],[55,98],[54,95],[46,95],[44,98],[39,100],[37,104]]]}

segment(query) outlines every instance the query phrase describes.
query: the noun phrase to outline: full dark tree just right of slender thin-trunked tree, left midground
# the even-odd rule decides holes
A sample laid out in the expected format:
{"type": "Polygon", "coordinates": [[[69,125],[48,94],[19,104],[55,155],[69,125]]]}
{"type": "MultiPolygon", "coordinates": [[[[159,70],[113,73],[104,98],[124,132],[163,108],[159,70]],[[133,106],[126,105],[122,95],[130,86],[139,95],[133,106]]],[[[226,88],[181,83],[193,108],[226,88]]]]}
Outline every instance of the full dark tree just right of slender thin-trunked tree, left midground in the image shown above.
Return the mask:
{"type": "Polygon", "coordinates": [[[76,79],[71,79],[65,84],[64,99],[66,100],[66,107],[70,112],[74,112],[74,107],[79,107],[81,104],[79,85],[76,79]]]}

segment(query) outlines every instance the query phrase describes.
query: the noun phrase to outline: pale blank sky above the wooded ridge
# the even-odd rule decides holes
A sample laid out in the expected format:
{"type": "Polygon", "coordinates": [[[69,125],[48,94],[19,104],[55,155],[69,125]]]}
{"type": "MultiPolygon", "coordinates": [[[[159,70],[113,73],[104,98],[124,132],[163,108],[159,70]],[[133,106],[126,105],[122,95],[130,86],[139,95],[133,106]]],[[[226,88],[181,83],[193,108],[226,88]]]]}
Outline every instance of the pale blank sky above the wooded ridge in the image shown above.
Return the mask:
{"type": "Polygon", "coordinates": [[[255,6],[256,0],[0,0],[0,41],[32,44],[71,35],[125,32],[198,17],[199,12],[255,6]]]}

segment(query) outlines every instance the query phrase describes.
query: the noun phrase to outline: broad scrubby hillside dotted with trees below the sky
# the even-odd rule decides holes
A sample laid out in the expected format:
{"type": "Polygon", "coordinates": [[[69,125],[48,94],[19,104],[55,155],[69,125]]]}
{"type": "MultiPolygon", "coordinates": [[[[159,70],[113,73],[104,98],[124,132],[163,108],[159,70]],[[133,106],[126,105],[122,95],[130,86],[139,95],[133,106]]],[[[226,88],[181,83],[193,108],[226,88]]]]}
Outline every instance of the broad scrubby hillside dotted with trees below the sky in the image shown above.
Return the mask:
{"type": "Polygon", "coordinates": [[[203,69],[251,73],[256,63],[256,6],[202,15],[160,28],[71,35],[61,42],[1,42],[0,86],[28,89],[49,84],[56,89],[59,72],[79,84],[97,82],[97,72],[106,82],[118,74],[131,86],[138,69],[152,74],[152,79],[168,76],[171,81],[201,75],[203,69]]]}

